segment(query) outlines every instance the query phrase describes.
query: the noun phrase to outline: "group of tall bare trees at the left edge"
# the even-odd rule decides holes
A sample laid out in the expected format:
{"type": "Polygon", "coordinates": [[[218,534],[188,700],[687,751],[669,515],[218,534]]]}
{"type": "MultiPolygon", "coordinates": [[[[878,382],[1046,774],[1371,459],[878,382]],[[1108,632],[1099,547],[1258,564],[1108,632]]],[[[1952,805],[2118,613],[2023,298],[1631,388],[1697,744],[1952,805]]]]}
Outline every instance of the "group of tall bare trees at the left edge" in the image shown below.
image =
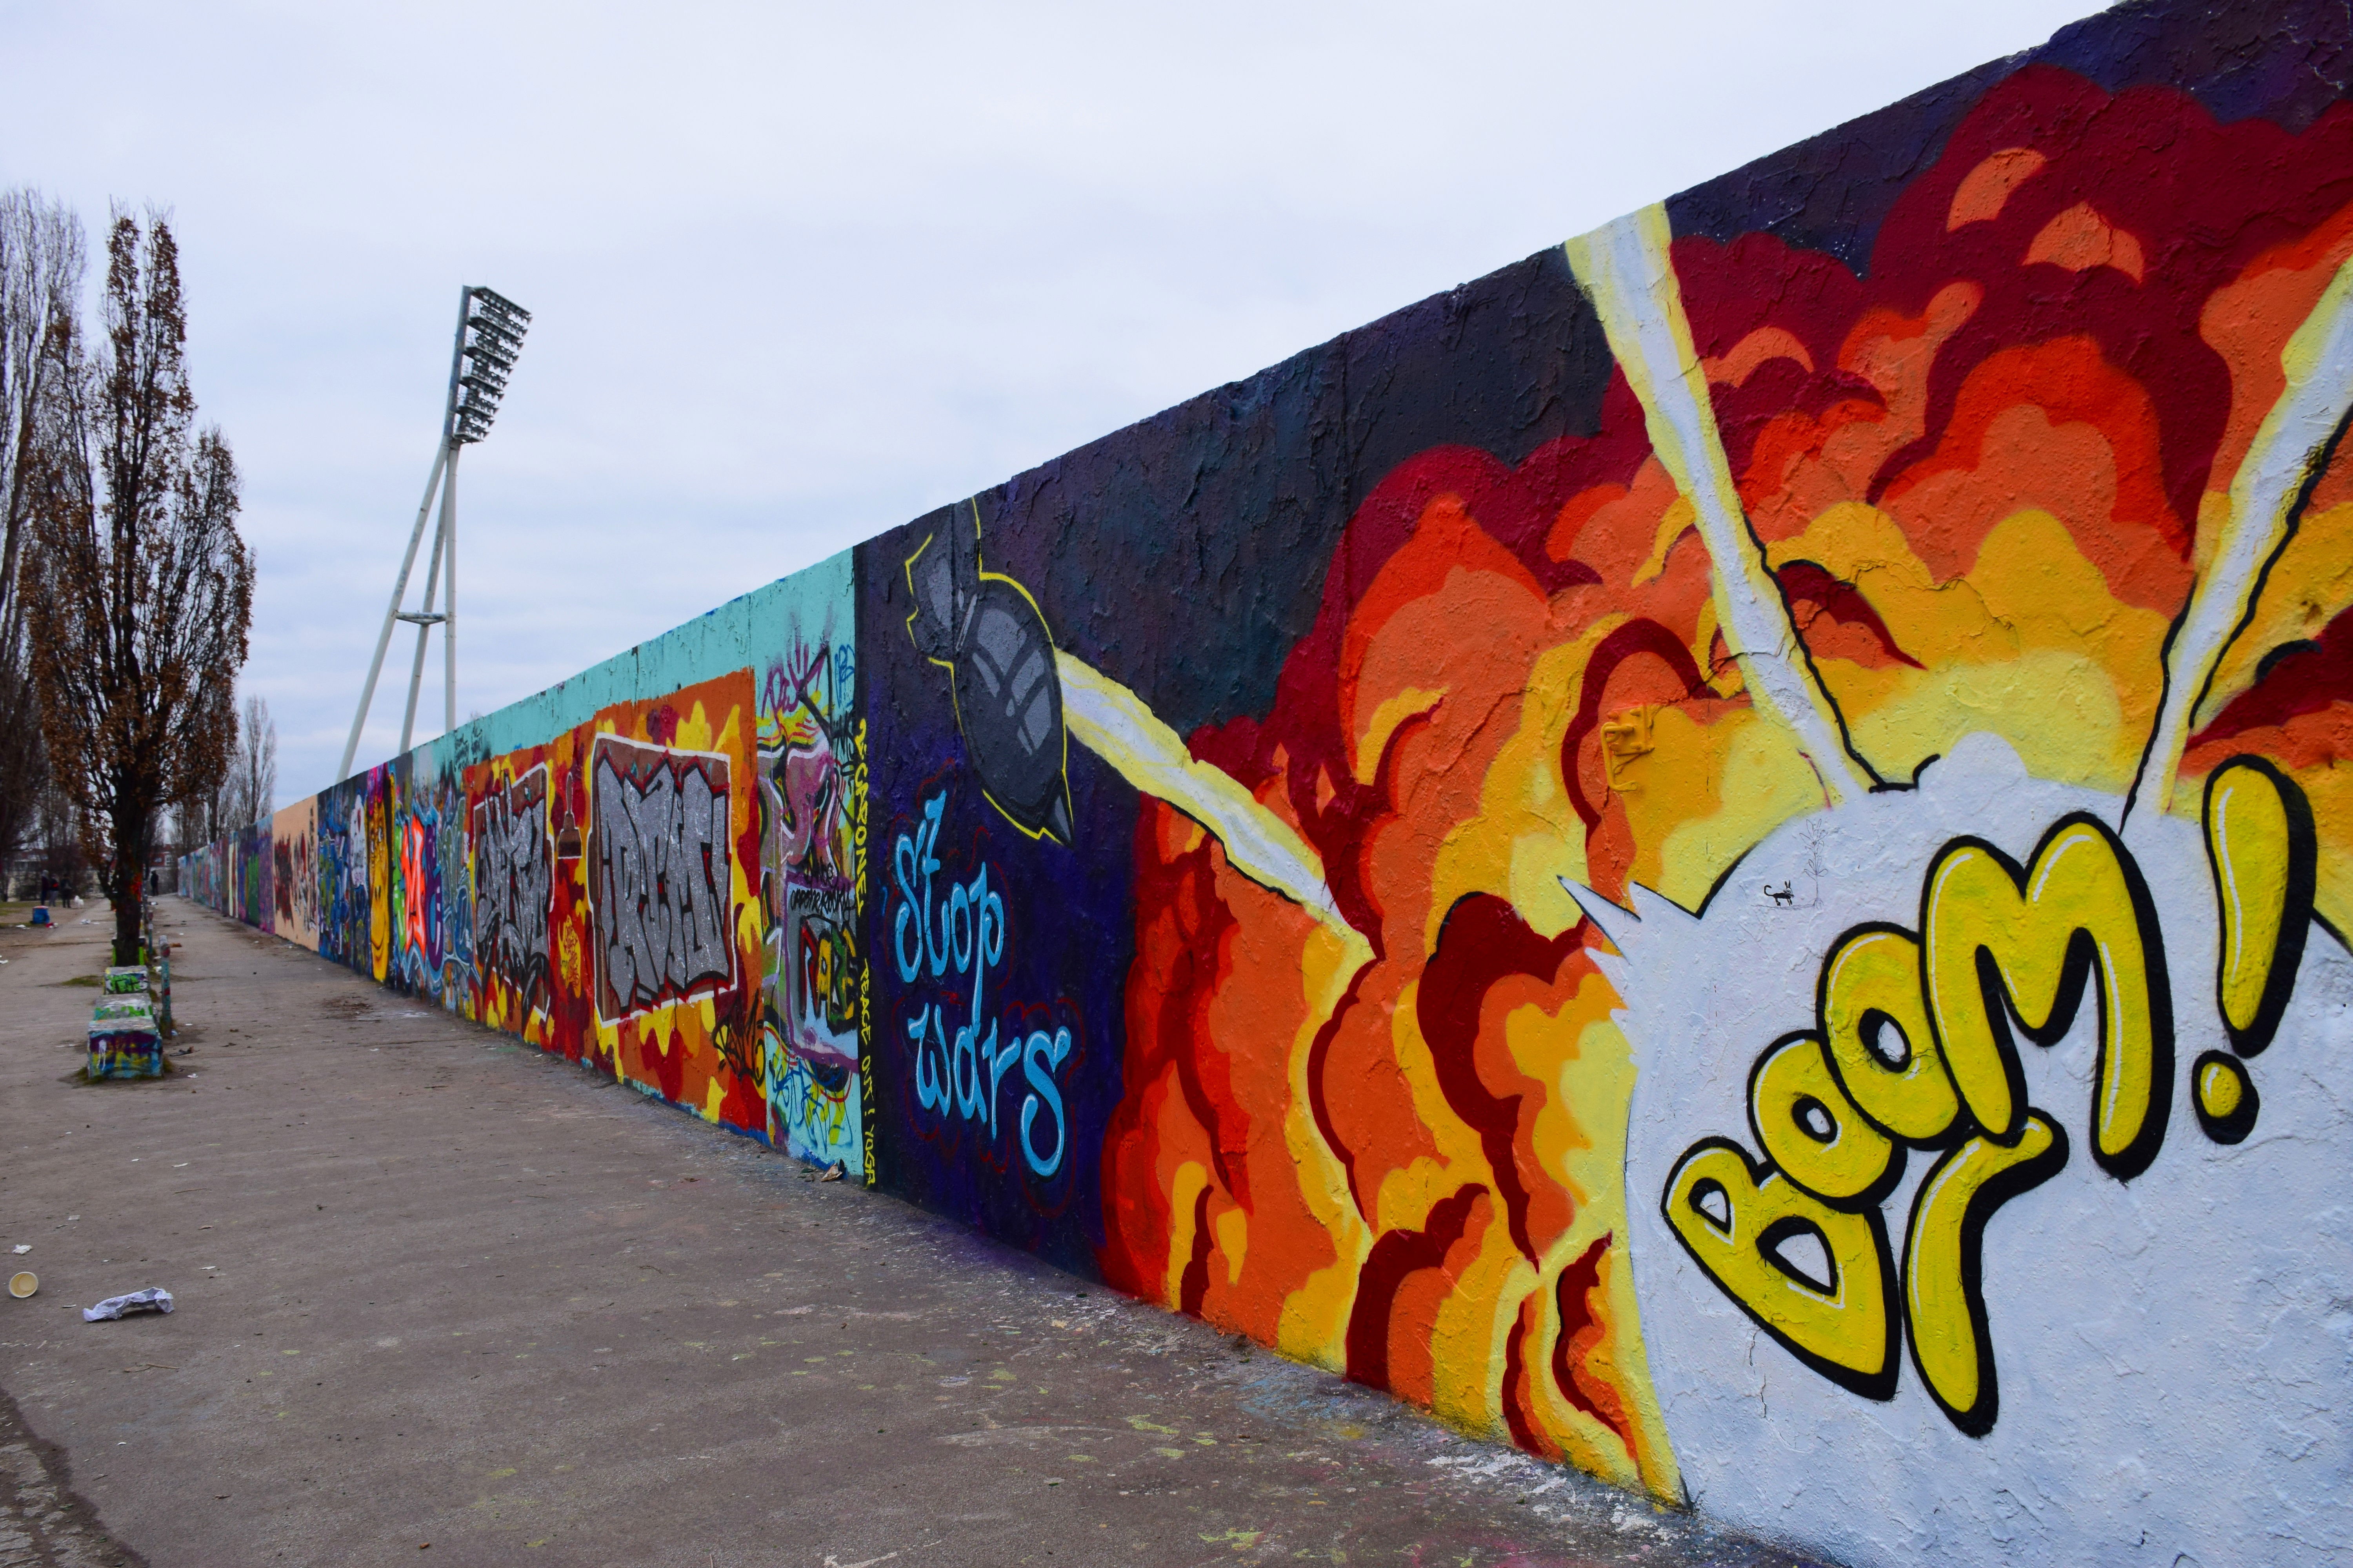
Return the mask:
{"type": "Polygon", "coordinates": [[[113,214],[96,334],[82,284],[73,212],[0,193],[0,858],[71,820],[127,964],[165,813],[205,837],[266,813],[256,759],[231,764],[275,731],[256,708],[238,745],[254,557],[195,418],[169,221],[113,214]]]}

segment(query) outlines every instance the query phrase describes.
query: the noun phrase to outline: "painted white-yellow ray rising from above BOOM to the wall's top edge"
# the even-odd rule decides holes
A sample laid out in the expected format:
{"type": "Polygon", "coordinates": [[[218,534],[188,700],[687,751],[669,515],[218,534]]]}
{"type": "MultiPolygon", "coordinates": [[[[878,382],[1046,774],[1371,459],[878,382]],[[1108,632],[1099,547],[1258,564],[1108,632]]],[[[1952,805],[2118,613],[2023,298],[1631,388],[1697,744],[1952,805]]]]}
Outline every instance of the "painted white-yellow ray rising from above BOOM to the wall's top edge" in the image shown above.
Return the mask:
{"type": "Polygon", "coordinates": [[[1567,242],[1569,268],[1593,296],[1609,353],[1642,400],[1652,451],[1699,517],[1715,564],[1715,621],[1741,661],[1751,701],[1795,733],[1831,802],[1864,795],[1878,778],[1847,748],[1845,724],[1814,677],[1779,583],[1748,529],[1732,484],[1708,378],[1692,350],[1682,289],[1668,263],[1666,207],[1642,207],[1567,242]]]}

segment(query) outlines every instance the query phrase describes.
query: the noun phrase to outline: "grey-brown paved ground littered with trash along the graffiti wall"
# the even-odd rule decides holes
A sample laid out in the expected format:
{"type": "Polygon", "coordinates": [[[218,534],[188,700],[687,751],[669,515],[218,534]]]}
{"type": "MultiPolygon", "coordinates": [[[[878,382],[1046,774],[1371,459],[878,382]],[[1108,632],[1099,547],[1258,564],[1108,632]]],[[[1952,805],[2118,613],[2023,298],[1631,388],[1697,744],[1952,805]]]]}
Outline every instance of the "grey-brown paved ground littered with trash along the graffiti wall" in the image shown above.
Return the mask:
{"type": "Polygon", "coordinates": [[[151,1084],[0,931],[0,1568],[1795,1561],[162,910],[151,1084]]]}

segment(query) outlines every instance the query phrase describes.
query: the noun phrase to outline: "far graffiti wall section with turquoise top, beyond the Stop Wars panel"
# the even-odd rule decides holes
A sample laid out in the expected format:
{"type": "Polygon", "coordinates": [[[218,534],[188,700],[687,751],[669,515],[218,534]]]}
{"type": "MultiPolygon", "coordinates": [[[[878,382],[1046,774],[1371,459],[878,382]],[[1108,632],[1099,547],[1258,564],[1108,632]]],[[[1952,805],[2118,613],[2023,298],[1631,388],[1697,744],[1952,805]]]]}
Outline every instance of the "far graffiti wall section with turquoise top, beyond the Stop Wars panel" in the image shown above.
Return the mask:
{"type": "Polygon", "coordinates": [[[259,860],[191,856],[188,886],[864,1175],[852,630],[842,555],[280,811],[259,860]]]}

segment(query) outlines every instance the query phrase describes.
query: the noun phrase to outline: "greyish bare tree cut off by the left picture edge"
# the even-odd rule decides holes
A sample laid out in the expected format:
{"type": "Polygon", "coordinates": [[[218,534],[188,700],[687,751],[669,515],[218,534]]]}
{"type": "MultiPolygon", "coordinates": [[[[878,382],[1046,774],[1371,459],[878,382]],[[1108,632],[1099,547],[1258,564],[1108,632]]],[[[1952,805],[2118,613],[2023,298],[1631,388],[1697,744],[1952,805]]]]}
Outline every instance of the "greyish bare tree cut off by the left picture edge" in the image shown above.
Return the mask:
{"type": "Polygon", "coordinates": [[[38,190],[0,193],[0,858],[38,827],[47,750],[24,646],[19,559],[31,517],[35,421],[47,397],[49,327],[82,292],[82,226],[38,190]]]}

